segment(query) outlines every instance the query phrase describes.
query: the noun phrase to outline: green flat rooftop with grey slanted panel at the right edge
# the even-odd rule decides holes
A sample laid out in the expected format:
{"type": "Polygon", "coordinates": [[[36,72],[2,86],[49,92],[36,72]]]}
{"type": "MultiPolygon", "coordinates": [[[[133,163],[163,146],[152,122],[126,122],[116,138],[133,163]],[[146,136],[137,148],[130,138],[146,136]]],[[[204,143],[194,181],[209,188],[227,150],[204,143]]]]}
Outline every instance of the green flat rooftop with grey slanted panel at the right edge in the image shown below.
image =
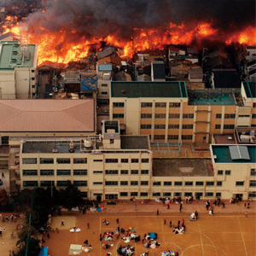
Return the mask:
{"type": "Polygon", "coordinates": [[[256,146],[211,145],[215,163],[256,163],[256,146]]]}

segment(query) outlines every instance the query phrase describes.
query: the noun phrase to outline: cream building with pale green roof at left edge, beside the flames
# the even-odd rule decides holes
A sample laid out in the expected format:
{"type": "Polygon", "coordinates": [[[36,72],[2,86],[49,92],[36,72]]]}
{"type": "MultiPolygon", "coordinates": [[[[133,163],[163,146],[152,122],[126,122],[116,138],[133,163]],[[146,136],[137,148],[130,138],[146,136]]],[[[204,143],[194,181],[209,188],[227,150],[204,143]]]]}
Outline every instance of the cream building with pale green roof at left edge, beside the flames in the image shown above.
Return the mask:
{"type": "Polygon", "coordinates": [[[0,44],[0,99],[38,96],[38,44],[22,49],[18,41],[0,44]]]}

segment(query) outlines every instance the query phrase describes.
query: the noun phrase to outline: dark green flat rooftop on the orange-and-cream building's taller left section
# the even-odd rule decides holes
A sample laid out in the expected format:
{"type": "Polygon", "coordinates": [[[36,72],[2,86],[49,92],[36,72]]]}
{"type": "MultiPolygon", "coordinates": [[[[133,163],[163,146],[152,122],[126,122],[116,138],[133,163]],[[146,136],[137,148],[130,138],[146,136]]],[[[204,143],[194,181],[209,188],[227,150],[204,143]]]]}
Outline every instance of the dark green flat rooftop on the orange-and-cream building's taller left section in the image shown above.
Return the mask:
{"type": "Polygon", "coordinates": [[[110,96],[114,98],[187,98],[185,82],[120,82],[111,81],[110,96]]]}

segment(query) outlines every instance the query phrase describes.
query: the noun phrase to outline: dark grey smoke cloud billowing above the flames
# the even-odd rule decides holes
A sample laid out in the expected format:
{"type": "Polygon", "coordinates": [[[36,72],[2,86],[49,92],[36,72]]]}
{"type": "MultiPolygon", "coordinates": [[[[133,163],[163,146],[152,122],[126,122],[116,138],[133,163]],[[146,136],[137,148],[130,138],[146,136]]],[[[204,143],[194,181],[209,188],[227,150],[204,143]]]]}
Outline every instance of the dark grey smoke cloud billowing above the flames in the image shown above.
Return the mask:
{"type": "Polygon", "coordinates": [[[109,34],[129,39],[134,28],[165,30],[170,22],[212,22],[223,33],[255,26],[255,0],[55,0],[45,9],[29,15],[30,31],[66,31],[67,40],[109,34]]]}

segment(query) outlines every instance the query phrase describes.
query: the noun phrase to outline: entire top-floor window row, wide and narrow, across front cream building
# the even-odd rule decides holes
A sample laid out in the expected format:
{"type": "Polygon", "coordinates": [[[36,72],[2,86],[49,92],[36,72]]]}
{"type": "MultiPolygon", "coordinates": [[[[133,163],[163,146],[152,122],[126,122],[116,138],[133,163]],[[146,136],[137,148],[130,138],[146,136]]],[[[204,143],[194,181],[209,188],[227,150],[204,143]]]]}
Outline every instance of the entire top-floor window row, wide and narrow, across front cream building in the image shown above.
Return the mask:
{"type": "MultiPolygon", "coordinates": [[[[102,160],[94,160],[94,161],[102,161],[102,160]]],[[[106,163],[118,163],[118,159],[106,159],[106,163]]],[[[70,164],[71,160],[69,158],[57,158],[56,160],[57,164],[70,164]]],[[[128,163],[128,159],[121,159],[121,163],[128,163]]],[[[131,159],[131,163],[138,163],[138,159],[131,159]]],[[[148,163],[149,159],[148,158],[143,158],[142,163],[148,163]]],[[[37,164],[38,159],[37,158],[23,158],[22,159],[22,164],[27,165],[27,164],[37,164]]],[[[54,164],[54,159],[53,158],[40,158],[40,164],[54,164]]],[[[86,158],[74,158],[73,159],[73,164],[87,164],[87,159],[86,158]]]]}

